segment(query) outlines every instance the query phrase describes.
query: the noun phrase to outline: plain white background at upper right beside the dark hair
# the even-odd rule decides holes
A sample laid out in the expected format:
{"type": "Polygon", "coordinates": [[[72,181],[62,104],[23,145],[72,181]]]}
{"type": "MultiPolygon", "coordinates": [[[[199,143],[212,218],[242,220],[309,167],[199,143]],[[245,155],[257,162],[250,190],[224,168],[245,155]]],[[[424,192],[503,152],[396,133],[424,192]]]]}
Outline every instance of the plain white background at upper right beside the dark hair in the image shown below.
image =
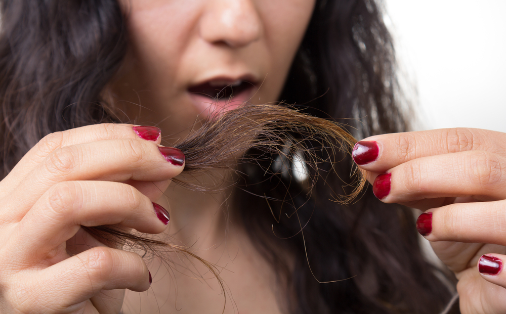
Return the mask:
{"type": "Polygon", "coordinates": [[[385,0],[419,128],[506,132],[506,0],[385,0]],[[412,95],[411,95],[412,96],[412,95]]]}

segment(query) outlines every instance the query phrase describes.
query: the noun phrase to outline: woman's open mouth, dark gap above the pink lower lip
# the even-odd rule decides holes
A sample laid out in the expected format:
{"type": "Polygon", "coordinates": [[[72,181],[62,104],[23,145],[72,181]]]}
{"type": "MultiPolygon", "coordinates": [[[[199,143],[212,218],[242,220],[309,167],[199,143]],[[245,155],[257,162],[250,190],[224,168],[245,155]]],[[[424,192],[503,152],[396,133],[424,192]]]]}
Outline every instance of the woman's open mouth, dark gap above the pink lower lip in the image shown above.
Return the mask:
{"type": "Polygon", "coordinates": [[[252,87],[255,87],[255,84],[246,80],[237,80],[234,82],[213,80],[190,87],[188,88],[188,92],[214,100],[231,100],[252,87]]]}

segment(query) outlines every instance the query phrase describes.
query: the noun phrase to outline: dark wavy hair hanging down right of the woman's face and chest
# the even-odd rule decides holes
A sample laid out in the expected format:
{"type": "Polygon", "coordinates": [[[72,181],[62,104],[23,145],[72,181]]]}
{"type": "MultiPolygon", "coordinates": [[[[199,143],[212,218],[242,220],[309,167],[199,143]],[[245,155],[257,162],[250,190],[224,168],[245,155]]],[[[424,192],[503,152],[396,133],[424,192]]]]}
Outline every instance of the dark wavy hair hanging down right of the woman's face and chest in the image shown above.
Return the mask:
{"type": "MultiPolygon", "coordinates": [[[[308,106],[304,110],[309,114],[346,123],[349,131],[367,137],[408,129],[400,96],[382,7],[373,0],[317,2],[281,101],[308,106]]],[[[347,193],[336,189],[352,173],[353,161],[347,155],[342,160],[338,175],[318,180],[309,196],[301,185],[283,177],[268,182],[261,172],[243,169],[254,165],[240,165],[241,171],[258,175],[248,176],[246,192],[237,191],[242,205],[235,208],[259,251],[284,276],[290,312],[441,311],[450,292],[420,252],[412,210],[384,204],[371,190],[349,206],[329,199],[347,193]],[[287,193],[289,204],[271,201],[271,208],[263,210],[252,196],[283,200],[287,193]],[[282,212],[281,219],[276,221],[271,211],[282,212]],[[291,269],[289,261],[295,261],[291,269]]],[[[320,167],[325,173],[330,165],[320,167]]]]}

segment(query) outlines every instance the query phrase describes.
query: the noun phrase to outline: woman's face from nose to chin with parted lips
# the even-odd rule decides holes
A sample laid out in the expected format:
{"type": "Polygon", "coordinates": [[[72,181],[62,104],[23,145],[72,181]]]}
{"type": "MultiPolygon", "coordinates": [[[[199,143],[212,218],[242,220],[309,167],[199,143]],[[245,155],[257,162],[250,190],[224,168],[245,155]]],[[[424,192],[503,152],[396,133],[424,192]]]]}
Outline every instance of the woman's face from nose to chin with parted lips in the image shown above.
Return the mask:
{"type": "Polygon", "coordinates": [[[315,0],[121,0],[130,51],[115,99],[180,133],[197,117],[277,101],[315,0]]]}

